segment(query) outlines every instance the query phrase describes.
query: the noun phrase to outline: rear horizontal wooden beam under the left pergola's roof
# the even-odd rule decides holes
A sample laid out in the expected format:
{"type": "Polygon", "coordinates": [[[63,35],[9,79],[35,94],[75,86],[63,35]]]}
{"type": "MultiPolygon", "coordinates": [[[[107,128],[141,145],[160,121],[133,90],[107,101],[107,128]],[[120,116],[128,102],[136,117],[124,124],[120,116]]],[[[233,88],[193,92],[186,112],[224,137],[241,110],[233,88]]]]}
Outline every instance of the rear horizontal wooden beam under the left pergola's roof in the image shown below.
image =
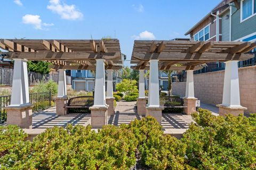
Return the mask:
{"type": "MultiPolygon", "coordinates": [[[[96,66],[60,66],[60,65],[54,65],[49,66],[49,68],[52,69],[67,69],[67,70],[95,70],[96,66]]],[[[105,69],[111,69],[111,70],[119,70],[122,69],[122,66],[105,66],[105,69]]]]}

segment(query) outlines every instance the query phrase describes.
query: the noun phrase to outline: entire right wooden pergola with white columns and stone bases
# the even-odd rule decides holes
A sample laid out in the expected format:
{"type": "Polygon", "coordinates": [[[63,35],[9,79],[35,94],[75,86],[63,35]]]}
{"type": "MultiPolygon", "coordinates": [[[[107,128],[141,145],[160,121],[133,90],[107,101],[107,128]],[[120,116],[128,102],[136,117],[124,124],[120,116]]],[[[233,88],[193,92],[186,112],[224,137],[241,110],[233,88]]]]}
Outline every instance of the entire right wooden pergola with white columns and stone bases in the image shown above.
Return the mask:
{"type": "Polygon", "coordinates": [[[240,104],[238,61],[253,58],[250,52],[256,47],[251,42],[197,42],[197,41],[134,41],[131,68],[140,70],[138,114],[154,116],[161,123],[162,107],[159,104],[159,70],[186,70],[185,113],[196,109],[193,71],[213,61],[226,63],[222,104],[219,114],[243,114],[240,104]],[[146,105],[145,70],[149,70],[149,95],[146,105]]]}

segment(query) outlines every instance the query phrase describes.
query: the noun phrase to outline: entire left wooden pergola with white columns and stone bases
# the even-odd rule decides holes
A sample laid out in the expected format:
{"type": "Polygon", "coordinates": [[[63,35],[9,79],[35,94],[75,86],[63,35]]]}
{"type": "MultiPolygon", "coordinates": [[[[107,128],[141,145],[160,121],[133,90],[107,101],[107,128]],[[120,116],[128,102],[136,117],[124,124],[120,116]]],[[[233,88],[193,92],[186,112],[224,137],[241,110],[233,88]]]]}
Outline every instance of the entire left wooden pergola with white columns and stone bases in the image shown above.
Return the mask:
{"type": "Polygon", "coordinates": [[[95,70],[94,103],[90,107],[91,125],[101,128],[107,116],[114,114],[113,70],[123,67],[118,39],[63,40],[63,39],[0,39],[2,58],[14,60],[11,104],[7,107],[7,124],[22,128],[32,127],[27,74],[28,60],[51,62],[59,70],[58,95],[55,99],[57,115],[67,114],[65,70],[95,70]],[[107,70],[107,93],[105,92],[107,70]]]}

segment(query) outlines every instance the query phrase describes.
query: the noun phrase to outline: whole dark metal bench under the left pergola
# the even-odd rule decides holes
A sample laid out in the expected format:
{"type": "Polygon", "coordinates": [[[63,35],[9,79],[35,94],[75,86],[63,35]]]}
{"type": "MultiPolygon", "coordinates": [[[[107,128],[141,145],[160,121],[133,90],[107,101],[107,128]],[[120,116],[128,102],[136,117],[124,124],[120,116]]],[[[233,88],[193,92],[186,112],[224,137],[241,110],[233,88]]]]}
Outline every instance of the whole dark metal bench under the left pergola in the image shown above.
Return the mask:
{"type": "Polygon", "coordinates": [[[70,98],[65,108],[68,109],[67,112],[69,112],[70,109],[89,109],[93,106],[93,102],[93,96],[78,96],[70,98]]]}

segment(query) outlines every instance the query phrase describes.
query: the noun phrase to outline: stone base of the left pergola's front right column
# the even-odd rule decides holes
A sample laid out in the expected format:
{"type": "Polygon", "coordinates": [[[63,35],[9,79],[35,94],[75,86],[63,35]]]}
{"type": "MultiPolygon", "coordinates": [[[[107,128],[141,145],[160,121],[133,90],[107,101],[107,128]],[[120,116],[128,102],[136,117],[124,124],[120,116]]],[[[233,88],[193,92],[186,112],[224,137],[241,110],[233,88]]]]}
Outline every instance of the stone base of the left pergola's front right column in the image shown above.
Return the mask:
{"type": "Polygon", "coordinates": [[[108,124],[108,107],[92,106],[91,110],[91,125],[92,128],[102,128],[103,125],[108,124]]]}

